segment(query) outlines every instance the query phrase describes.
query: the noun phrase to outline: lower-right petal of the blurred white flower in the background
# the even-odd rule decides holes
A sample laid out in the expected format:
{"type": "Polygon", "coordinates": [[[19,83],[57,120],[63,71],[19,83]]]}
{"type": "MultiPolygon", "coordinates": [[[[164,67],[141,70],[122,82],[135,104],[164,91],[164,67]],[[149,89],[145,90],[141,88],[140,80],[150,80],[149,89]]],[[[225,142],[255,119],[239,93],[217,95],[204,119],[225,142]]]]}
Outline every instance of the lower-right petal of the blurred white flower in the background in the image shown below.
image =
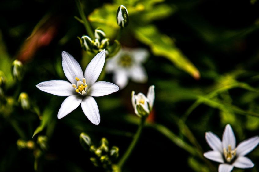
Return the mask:
{"type": "Polygon", "coordinates": [[[145,83],[147,81],[147,74],[144,67],[139,65],[132,66],[131,78],[134,82],[145,83]]]}

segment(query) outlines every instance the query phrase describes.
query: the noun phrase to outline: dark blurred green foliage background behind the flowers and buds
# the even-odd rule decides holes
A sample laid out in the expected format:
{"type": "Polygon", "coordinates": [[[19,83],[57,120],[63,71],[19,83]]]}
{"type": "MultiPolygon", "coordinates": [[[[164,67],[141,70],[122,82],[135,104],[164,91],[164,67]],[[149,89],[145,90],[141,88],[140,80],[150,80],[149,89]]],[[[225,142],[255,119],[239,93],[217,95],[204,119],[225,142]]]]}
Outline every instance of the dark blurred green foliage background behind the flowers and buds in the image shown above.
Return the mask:
{"type": "MultiPolygon", "coordinates": [[[[79,142],[87,133],[95,145],[105,137],[119,147],[119,158],[140,121],[131,105],[131,91],[147,93],[155,85],[154,109],[122,171],[214,171],[218,163],[203,157],[210,150],[205,132],[222,136],[231,124],[237,143],[259,131],[259,15],[257,0],[128,0],[81,1],[94,30],[101,27],[113,41],[119,27],[116,11],[127,7],[129,25],[122,47],[146,48],[147,83],[126,88],[97,101],[101,123],[92,124],[81,108],[62,119],[57,112],[64,97],[35,87],[42,81],[66,80],[61,52],[67,51],[84,70],[93,54],[77,37],[87,35],[75,1],[4,0],[0,2],[1,85],[0,171],[104,171],[89,160],[79,142]],[[13,60],[24,66],[24,77],[11,75],[13,60]],[[18,102],[29,96],[31,109],[18,102]],[[39,133],[32,138],[35,129],[39,133]],[[37,143],[47,136],[46,149],[37,143]],[[32,141],[33,149],[18,140],[32,141]]],[[[113,82],[112,74],[103,81],[113,82]]],[[[259,149],[248,157],[259,170],[259,149]]],[[[117,161],[115,160],[114,163],[117,161]]],[[[234,169],[233,171],[243,171],[234,169]]]]}

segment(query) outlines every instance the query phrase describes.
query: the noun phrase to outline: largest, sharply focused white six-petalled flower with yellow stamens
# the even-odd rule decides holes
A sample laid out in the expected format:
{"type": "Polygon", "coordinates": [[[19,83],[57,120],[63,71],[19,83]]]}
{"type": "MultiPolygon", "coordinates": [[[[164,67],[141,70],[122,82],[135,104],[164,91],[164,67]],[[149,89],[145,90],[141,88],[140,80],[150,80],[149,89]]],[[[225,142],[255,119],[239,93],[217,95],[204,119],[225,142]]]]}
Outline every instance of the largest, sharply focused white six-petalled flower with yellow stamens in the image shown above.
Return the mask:
{"type": "Polygon", "coordinates": [[[68,81],[51,80],[36,85],[41,91],[59,96],[68,96],[58,111],[63,118],[80,104],[84,114],[95,125],[100,123],[100,113],[93,97],[108,95],[119,90],[118,86],[98,81],[105,62],[105,50],[98,53],[83,71],[77,61],[67,52],[62,52],[62,66],[68,81]],[[93,96],[93,97],[92,97],[93,96]]]}

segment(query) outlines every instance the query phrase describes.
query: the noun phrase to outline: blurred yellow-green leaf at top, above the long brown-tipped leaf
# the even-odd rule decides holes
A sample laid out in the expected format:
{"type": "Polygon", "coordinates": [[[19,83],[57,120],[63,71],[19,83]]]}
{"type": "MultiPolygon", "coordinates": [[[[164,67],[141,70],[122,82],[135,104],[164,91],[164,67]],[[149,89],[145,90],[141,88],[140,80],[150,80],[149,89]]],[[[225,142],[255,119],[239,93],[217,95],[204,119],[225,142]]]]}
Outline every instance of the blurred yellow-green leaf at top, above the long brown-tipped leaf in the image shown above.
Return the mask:
{"type": "Polygon", "coordinates": [[[170,16],[176,11],[175,6],[168,6],[165,4],[160,4],[154,6],[150,11],[146,11],[143,15],[140,16],[140,20],[144,22],[150,22],[152,20],[158,20],[170,16]]]}

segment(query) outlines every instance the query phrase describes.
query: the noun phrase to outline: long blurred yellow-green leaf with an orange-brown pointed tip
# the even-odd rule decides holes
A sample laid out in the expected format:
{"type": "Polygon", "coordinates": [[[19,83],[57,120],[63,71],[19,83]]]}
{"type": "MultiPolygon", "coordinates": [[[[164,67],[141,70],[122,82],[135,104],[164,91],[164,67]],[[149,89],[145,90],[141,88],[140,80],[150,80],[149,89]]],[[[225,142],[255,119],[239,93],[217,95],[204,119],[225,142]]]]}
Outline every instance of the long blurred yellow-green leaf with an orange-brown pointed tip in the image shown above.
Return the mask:
{"type": "Polygon", "coordinates": [[[198,69],[176,48],[173,40],[166,35],[160,34],[155,26],[135,27],[133,31],[139,41],[150,46],[155,56],[163,56],[195,79],[200,78],[198,69]]]}

